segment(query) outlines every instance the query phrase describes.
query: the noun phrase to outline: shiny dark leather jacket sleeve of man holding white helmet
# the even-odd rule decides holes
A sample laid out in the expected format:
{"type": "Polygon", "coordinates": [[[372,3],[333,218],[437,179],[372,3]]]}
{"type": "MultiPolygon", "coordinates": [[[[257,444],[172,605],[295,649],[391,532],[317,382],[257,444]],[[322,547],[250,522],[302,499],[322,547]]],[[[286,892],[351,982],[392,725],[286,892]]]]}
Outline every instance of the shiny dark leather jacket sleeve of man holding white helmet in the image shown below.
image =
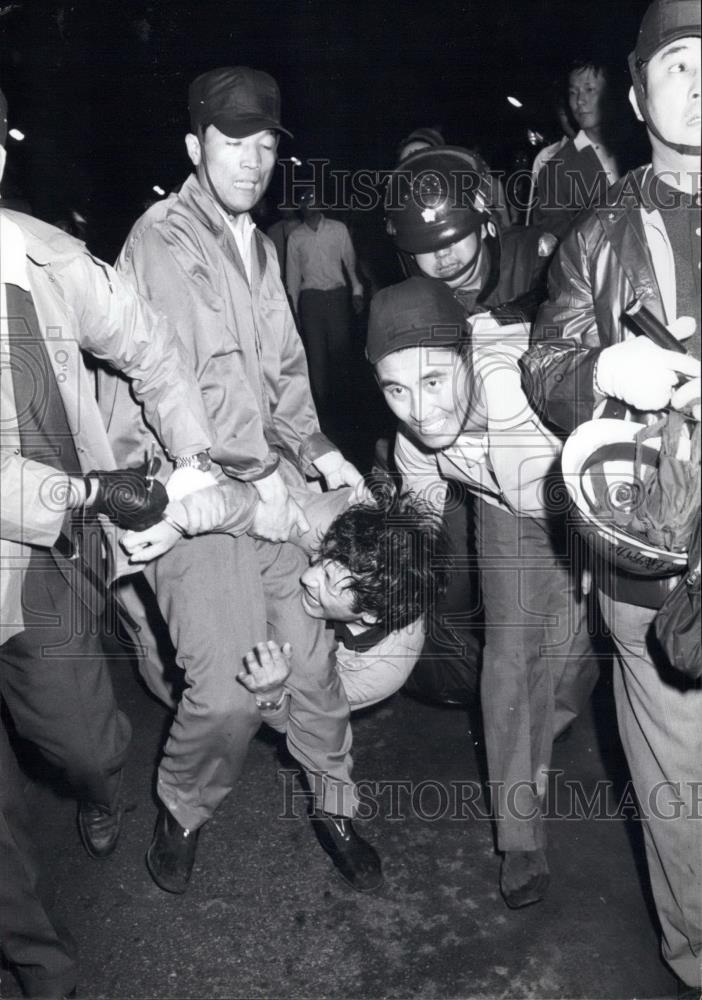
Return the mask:
{"type": "Polygon", "coordinates": [[[593,372],[602,344],[590,278],[586,231],[571,230],[549,272],[549,297],[522,357],[522,384],[548,423],[570,433],[592,418],[598,398],[593,372]]]}

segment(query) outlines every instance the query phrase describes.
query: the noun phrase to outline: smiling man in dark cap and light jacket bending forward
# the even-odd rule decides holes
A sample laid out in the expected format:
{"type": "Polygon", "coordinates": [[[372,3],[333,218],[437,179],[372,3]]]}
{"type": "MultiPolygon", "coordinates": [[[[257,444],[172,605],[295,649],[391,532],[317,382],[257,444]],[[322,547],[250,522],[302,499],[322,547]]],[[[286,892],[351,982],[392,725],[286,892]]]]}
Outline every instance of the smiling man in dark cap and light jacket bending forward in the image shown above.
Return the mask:
{"type": "Polygon", "coordinates": [[[512,908],[548,886],[541,808],[554,736],[587,700],[585,608],[564,555],[555,466],[560,442],[520,387],[523,324],[468,326],[448,285],[410,278],[371,302],[366,355],[399,419],[405,485],[441,507],[447,480],[475,498],[485,611],[481,699],[494,789],[500,888],[512,908]]]}

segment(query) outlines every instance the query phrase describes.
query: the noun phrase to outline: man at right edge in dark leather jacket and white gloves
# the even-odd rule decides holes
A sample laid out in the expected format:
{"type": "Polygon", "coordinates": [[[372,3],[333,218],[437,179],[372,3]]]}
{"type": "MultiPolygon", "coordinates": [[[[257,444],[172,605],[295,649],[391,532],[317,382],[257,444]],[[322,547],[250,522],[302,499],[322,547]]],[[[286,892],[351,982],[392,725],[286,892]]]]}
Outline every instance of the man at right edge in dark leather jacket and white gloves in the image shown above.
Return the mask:
{"type": "MultiPolygon", "coordinates": [[[[525,358],[525,388],[564,431],[603,405],[690,408],[700,358],[700,5],[655,0],[629,57],[630,100],[652,162],[626,175],[610,205],[576,223],[549,276],[550,297],[525,358]],[[633,299],[684,341],[688,356],[635,338],[621,322],[633,299]],[[681,375],[691,377],[678,387],[681,375]],[[608,401],[612,401],[609,402],[608,401]]],[[[646,414],[638,414],[641,422],[646,414]]],[[[699,991],[702,968],[702,691],[671,675],[651,643],[669,584],[610,569],[596,580],[618,663],[622,743],[642,803],[649,874],[665,959],[699,991]],[[652,796],[658,794],[651,807],[652,796]],[[675,810],[675,820],[666,818],[675,810]]],[[[692,992],[690,995],[693,995],[692,992]]],[[[697,993],[694,994],[697,996],[697,993]]]]}

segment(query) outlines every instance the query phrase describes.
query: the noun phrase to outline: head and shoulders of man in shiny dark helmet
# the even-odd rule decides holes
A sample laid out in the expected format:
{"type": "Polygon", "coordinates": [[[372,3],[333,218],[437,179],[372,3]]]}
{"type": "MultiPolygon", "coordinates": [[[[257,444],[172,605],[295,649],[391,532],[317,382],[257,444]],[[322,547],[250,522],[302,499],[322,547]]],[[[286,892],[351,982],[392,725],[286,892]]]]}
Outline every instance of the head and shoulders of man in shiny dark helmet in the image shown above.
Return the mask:
{"type": "Polygon", "coordinates": [[[507,321],[531,319],[555,241],[536,230],[500,230],[493,198],[475,154],[458,146],[421,149],[390,177],[387,230],[407,273],[444,281],[467,316],[500,306],[507,321]]]}

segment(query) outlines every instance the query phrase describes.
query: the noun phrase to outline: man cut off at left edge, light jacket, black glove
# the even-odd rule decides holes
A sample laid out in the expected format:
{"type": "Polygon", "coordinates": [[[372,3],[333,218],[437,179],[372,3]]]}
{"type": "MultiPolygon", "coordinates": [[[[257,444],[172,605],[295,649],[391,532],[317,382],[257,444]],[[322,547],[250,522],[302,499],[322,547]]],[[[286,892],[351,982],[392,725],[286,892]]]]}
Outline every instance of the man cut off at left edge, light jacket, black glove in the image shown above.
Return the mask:
{"type": "MultiPolygon", "coordinates": [[[[6,107],[0,93],[0,176],[6,107]]],[[[161,523],[168,498],[145,469],[116,468],[81,351],[133,380],[173,458],[210,447],[208,421],[163,318],[82,243],[5,209],[0,341],[0,697],[17,732],[75,789],[87,852],[106,858],[120,835],[131,733],[102,640],[109,583],[135,572],[117,528],[161,523]]],[[[2,949],[27,996],[65,996],[74,949],[43,897],[4,731],[0,772],[2,949]]]]}

